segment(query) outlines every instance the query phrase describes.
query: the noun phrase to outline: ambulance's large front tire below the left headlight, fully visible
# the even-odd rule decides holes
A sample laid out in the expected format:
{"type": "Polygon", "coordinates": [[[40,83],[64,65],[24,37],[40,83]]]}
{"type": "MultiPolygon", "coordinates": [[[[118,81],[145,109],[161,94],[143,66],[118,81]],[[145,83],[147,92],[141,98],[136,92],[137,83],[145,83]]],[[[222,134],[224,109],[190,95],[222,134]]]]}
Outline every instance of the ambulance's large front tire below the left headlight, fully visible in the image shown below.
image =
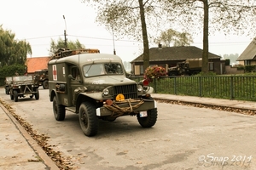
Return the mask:
{"type": "Polygon", "coordinates": [[[79,122],[86,136],[94,136],[98,132],[99,120],[96,116],[96,107],[90,102],[84,102],[79,108],[79,122]]]}

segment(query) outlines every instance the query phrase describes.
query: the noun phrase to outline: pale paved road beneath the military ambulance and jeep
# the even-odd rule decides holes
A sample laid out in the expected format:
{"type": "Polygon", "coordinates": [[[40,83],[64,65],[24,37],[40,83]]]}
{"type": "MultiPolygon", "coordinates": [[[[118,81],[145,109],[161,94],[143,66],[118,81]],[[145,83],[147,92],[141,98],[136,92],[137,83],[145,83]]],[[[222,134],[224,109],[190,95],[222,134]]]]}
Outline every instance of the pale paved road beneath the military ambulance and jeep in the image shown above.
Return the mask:
{"type": "Polygon", "coordinates": [[[73,169],[256,169],[255,116],[185,105],[158,103],[152,128],[142,128],[135,116],[100,122],[96,137],[84,136],[79,117],[67,112],[56,122],[49,91],[40,99],[14,102],[0,92],[15,113],[49,145],[60,151],[73,169]]]}

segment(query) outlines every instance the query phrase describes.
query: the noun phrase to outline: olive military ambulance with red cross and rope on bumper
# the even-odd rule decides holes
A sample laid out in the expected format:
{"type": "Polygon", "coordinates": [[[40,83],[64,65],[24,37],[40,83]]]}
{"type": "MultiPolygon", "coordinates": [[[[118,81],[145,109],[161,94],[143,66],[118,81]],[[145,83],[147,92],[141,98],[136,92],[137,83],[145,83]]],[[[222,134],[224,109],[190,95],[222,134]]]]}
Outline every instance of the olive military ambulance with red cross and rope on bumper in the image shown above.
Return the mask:
{"type": "Polygon", "coordinates": [[[119,56],[94,52],[63,51],[49,60],[49,100],[55,120],[63,121],[66,111],[78,114],[86,136],[96,135],[99,119],[113,122],[119,116],[137,116],[142,127],[153,127],[157,121],[154,88],[148,81],[125,77],[119,56]]]}

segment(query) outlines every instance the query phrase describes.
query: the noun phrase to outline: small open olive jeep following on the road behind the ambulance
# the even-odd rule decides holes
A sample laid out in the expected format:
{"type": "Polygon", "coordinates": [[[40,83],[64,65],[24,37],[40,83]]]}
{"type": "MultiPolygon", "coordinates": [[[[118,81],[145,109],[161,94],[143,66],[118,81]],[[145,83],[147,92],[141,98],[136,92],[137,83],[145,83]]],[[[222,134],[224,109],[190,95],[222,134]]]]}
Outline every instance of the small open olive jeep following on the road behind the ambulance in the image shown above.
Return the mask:
{"type": "Polygon", "coordinates": [[[35,96],[35,99],[39,99],[38,84],[34,84],[32,75],[28,76],[15,76],[12,77],[13,82],[10,86],[10,99],[14,99],[15,102],[18,98],[25,98],[26,94],[30,94],[30,98],[35,96]]]}

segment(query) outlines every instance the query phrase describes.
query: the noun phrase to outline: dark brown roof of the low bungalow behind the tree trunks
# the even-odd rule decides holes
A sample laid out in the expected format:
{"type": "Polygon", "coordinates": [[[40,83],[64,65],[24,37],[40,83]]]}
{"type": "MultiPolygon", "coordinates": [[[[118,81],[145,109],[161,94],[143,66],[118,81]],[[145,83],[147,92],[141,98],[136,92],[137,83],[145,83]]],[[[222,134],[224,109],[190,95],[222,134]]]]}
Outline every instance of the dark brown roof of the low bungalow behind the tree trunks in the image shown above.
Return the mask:
{"type": "MultiPolygon", "coordinates": [[[[164,61],[164,60],[185,60],[197,59],[202,57],[202,49],[195,46],[181,46],[181,47],[166,47],[166,48],[150,48],[150,61],[164,61]]],[[[221,57],[209,53],[209,59],[220,59],[221,57]]],[[[133,59],[132,62],[143,62],[143,54],[133,59]]]]}

